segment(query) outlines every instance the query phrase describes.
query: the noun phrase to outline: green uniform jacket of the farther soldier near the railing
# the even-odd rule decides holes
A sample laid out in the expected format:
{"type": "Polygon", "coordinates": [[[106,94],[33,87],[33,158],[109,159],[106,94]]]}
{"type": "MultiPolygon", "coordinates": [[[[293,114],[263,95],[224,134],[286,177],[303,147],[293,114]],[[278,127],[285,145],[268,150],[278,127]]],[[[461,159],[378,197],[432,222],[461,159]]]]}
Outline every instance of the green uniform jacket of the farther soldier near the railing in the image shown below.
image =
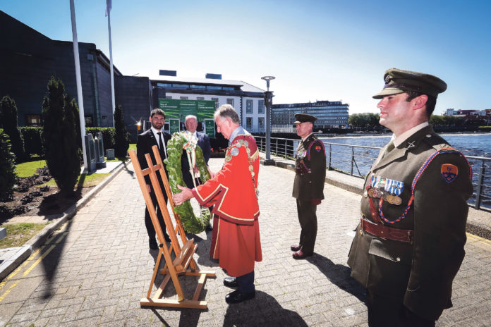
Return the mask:
{"type": "Polygon", "coordinates": [[[326,152],[313,134],[300,141],[296,152],[293,197],[303,201],[324,199],[326,152]]]}

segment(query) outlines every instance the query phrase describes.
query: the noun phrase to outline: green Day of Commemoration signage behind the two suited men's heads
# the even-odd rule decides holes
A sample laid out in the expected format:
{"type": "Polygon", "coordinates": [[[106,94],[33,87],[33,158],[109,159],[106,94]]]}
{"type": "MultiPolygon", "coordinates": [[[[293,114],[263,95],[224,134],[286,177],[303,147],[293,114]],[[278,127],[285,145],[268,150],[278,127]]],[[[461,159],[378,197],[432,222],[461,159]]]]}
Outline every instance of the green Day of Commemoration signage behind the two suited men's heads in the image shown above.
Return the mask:
{"type": "Polygon", "coordinates": [[[215,101],[159,99],[159,108],[165,111],[168,118],[184,121],[186,116],[194,115],[198,121],[204,121],[206,118],[213,118],[215,101]]]}

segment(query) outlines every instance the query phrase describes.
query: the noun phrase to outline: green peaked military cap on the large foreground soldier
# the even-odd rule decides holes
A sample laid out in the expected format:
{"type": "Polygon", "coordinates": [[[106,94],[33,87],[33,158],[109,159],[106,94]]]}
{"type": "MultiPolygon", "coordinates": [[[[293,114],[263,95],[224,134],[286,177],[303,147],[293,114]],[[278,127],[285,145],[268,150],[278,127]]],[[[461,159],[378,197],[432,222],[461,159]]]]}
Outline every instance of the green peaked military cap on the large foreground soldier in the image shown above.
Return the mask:
{"type": "Polygon", "coordinates": [[[447,83],[436,76],[409,70],[390,68],[384,75],[384,90],[373,96],[373,99],[382,99],[387,95],[416,91],[421,94],[438,97],[439,93],[447,90],[447,83]]]}

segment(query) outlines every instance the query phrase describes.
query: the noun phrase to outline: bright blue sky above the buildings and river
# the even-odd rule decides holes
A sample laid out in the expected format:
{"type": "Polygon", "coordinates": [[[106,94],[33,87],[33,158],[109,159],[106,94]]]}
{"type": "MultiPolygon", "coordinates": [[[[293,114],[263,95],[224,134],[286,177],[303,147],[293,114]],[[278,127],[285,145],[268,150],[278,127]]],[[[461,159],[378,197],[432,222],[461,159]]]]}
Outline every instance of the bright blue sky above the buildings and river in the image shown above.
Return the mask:
{"type": "MultiPolygon", "coordinates": [[[[75,0],[78,40],[109,57],[105,0],[75,0]]],[[[51,39],[72,40],[68,0],[0,1],[51,39]]],[[[243,80],[274,103],[343,101],[377,112],[384,71],[432,73],[444,109],[491,109],[491,1],[113,0],[114,64],[124,75],[243,80]]]]}

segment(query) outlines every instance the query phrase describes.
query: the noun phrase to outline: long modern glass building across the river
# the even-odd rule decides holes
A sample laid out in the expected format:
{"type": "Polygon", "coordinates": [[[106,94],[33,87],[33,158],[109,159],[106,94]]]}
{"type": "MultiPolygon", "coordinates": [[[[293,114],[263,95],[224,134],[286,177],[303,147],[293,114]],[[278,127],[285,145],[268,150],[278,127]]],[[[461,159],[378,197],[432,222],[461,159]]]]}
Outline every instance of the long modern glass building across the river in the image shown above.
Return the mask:
{"type": "Polygon", "coordinates": [[[314,130],[348,128],[348,106],[341,101],[315,101],[302,104],[273,104],[272,132],[294,132],[295,113],[317,117],[314,130]]]}

